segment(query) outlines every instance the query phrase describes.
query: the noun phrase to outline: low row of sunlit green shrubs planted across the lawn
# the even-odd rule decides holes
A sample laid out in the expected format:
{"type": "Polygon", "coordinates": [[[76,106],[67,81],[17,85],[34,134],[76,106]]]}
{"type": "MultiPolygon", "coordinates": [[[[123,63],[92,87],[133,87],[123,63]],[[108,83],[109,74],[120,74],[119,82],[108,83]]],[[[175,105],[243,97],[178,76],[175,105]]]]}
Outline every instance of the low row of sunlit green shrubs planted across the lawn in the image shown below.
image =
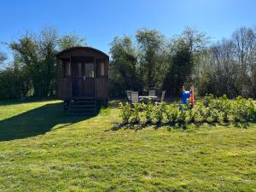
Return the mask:
{"type": "Polygon", "coordinates": [[[194,108],[177,104],[167,105],[165,102],[154,104],[148,102],[137,103],[131,107],[130,103],[120,103],[120,116],[124,124],[184,124],[191,123],[229,123],[255,122],[256,108],[252,99],[241,96],[234,100],[227,96],[214,98],[205,96],[196,102],[194,108]],[[165,122],[164,122],[165,121],[165,122]]]}

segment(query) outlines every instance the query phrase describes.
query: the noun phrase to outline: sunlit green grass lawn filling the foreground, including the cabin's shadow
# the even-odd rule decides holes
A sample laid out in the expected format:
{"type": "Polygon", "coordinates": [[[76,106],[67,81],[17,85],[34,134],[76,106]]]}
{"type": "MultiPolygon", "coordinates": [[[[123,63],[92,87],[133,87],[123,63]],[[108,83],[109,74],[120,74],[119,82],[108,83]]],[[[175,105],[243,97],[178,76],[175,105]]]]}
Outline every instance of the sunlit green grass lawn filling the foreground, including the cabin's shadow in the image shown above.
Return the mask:
{"type": "Polygon", "coordinates": [[[0,102],[0,191],[256,191],[256,124],[113,131],[118,113],[0,102]]]}

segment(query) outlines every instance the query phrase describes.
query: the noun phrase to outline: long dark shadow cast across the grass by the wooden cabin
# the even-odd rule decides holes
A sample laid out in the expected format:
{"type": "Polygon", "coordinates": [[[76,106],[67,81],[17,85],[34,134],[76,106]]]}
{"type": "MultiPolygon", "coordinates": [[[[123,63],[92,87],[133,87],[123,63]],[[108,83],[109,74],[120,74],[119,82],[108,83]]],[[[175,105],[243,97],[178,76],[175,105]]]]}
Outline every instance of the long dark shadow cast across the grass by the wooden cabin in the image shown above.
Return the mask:
{"type": "Polygon", "coordinates": [[[60,129],[91,117],[67,116],[67,113],[63,111],[61,102],[46,104],[26,113],[1,120],[0,142],[42,135],[50,131],[55,125],[66,124],[58,127],[60,129]]]}

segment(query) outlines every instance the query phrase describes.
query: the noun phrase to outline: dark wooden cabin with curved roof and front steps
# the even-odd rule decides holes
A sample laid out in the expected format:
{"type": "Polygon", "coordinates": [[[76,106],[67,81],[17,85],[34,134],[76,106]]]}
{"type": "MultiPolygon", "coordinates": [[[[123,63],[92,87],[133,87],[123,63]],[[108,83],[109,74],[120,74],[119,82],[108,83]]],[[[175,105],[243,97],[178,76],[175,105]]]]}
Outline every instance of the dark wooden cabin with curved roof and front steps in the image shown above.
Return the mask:
{"type": "Polygon", "coordinates": [[[56,58],[58,96],[64,108],[70,113],[96,113],[98,100],[108,102],[108,55],[90,47],[73,47],[56,58]]]}

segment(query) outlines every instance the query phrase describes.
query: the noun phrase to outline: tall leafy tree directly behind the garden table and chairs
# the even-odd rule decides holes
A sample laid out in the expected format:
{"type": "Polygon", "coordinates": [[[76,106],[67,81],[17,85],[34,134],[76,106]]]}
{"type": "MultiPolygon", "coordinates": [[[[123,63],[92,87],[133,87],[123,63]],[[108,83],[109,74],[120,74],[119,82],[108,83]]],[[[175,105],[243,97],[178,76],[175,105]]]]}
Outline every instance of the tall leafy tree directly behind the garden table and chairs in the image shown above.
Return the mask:
{"type": "Polygon", "coordinates": [[[139,47],[139,70],[147,90],[160,89],[166,75],[167,52],[164,36],[149,29],[136,34],[139,47]]]}

